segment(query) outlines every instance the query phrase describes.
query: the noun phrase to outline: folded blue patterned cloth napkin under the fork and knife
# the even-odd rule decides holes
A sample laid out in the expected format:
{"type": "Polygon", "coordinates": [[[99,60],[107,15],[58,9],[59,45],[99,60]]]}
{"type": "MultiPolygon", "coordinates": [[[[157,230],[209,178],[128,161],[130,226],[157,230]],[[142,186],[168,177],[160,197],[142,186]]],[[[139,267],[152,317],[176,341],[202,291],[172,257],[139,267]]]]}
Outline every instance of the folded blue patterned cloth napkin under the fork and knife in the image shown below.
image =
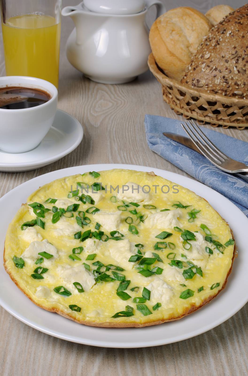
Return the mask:
{"type": "MultiPolygon", "coordinates": [[[[222,152],[248,165],[248,143],[215,130],[204,127],[201,129],[222,152]]],[[[153,152],[223,194],[248,217],[248,182],[219,170],[203,155],[163,135],[163,132],[171,132],[187,136],[180,120],[145,115],[145,132],[148,146],[153,152]]]]}

